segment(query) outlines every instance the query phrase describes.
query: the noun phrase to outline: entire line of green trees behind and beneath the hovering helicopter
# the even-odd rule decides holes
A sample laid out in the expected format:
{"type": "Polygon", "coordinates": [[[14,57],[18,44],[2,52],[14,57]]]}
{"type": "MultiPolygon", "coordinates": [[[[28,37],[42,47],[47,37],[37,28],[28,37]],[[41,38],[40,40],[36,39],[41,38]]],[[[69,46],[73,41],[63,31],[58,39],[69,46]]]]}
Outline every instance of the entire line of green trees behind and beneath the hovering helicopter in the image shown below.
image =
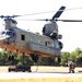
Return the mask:
{"type": "Polygon", "coordinates": [[[23,55],[14,55],[14,60],[9,60],[10,54],[7,51],[0,51],[0,66],[9,65],[30,65],[30,66],[66,66],[68,60],[77,63],[78,67],[82,67],[82,50],[80,48],[74,49],[72,52],[61,52],[61,62],[59,63],[57,58],[39,57],[37,62],[34,62],[31,57],[23,57],[23,55]]]}

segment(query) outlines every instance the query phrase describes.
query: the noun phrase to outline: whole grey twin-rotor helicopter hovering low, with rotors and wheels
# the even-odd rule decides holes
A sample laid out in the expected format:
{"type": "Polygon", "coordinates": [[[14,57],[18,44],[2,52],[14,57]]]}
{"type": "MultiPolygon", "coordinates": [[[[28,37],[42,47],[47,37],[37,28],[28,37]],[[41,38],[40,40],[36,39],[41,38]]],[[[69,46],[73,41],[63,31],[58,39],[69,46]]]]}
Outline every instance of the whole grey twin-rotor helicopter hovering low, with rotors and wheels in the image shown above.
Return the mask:
{"type": "Polygon", "coordinates": [[[38,57],[58,57],[58,62],[60,62],[62,43],[59,39],[62,35],[58,34],[57,21],[82,22],[78,20],[58,20],[65,9],[66,7],[61,7],[50,20],[37,20],[49,21],[43,27],[43,35],[19,28],[16,26],[17,22],[13,17],[21,15],[1,15],[0,17],[4,19],[4,31],[0,33],[0,48],[5,51],[31,56],[35,62],[37,62],[38,57]]]}

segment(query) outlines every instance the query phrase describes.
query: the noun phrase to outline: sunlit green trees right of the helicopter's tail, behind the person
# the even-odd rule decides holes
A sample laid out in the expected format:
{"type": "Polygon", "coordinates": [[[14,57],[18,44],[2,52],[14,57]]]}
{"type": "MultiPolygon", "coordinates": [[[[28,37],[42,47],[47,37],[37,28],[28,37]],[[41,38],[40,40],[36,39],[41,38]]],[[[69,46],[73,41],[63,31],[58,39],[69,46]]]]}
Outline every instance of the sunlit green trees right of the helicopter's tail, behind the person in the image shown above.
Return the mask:
{"type": "Polygon", "coordinates": [[[61,65],[63,66],[68,60],[71,60],[75,62],[78,67],[82,67],[82,50],[81,48],[77,48],[72,52],[62,52],[61,59],[61,65]]]}

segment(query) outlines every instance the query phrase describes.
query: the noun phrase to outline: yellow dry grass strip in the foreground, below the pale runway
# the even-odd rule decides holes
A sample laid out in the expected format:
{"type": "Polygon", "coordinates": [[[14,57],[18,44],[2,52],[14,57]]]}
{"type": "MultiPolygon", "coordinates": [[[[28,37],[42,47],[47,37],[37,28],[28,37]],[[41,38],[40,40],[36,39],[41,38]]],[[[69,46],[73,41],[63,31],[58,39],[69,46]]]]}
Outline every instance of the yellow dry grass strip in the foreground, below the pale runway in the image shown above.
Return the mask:
{"type": "Polygon", "coordinates": [[[0,82],[82,82],[82,78],[12,79],[12,80],[0,80],[0,82]]]}

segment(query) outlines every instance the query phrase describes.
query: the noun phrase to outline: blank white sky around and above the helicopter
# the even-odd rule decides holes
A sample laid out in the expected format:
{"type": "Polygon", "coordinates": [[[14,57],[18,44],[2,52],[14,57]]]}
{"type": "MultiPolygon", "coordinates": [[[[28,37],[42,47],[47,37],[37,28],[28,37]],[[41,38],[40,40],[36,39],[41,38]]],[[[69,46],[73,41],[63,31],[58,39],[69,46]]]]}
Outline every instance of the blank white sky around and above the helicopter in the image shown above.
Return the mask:
{"type": "MultiPolygon", "coordinates": [[[[82,0],[0,0],[0,15],[23,15],[16,19],[17,27],[42,34],[42,30],[47,22],[22,19],[51,19],[61,5],[66,7],[66,11],[59,19],[82,20],[82,0]],[[47,11],[52,12],[30,15],[47,11]]],[[[78,47],[82,49],[82,23],[57,22],[57,24],[59,34],[62,35],[62,51],[73,51],[78,47]]],[[[3,20],[1,19],[0,31],[2,30],[3,20]]]]}

